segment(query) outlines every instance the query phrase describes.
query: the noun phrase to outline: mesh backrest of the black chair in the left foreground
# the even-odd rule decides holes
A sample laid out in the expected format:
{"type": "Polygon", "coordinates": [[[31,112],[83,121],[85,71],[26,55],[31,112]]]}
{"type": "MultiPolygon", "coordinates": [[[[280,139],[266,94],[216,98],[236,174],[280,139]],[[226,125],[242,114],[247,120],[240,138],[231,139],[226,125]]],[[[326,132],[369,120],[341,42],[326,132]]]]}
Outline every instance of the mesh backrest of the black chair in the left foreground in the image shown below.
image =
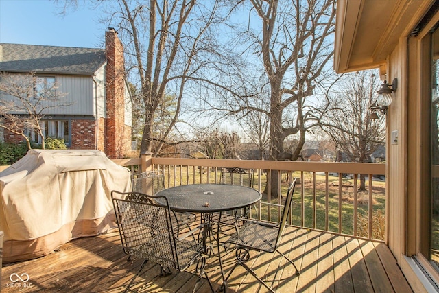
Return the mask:
{"type": "Polygon", "coordinates": [[[118,191],[111,197],[125,253],[178,269],[169,204],[154,204],[155,198],[164,197],[118,191]]]}

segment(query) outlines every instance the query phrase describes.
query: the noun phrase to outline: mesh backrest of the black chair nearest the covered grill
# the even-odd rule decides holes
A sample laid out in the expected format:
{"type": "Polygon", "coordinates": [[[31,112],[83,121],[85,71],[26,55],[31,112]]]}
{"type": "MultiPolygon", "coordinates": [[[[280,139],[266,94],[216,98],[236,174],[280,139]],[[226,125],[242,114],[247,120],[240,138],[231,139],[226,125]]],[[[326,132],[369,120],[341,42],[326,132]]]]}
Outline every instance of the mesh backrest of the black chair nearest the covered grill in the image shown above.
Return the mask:
{"type": "Polygon", "coordinates": [[[131,174],[132,191],[143,194],[156,194],[165,189],[165,176],[162,170],[131,174]]]}

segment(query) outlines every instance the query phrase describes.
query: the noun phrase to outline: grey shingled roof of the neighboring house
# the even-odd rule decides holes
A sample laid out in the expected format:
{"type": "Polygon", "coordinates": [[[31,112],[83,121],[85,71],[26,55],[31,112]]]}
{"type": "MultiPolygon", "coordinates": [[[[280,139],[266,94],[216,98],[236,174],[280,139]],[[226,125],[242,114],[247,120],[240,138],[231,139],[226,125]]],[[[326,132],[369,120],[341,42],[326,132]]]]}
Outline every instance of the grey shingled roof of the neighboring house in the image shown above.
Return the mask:
{"type": "Polygon", "coordinates": [[[0,43],[0,71],[92,75],[105,49],[0,43]]]}

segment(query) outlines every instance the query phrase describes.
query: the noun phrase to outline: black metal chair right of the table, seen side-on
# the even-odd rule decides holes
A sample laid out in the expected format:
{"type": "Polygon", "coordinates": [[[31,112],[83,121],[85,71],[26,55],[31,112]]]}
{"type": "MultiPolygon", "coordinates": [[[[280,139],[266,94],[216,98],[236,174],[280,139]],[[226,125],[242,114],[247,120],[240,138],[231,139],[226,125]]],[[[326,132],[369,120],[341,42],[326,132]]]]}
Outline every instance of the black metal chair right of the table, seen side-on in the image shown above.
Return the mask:
{"type": "Polygon", "coordinates": [[[267,285],[264,281],[262,281],[261,278],[257,276],[252,268],[247,266],[246,261],[250,259],[250,250],[265,251],[267,253],[279,253],[280,255],[282,255],[282,257],[287,259],[289,263],[292,263],[292,265],[296,269],[296,275],[300,274],[294,262],[288,259],[285,255],[283,255],[283,253],[281,253],[281,251],[277,249],[279,242],[281,242],[283,230],[285,228],[285,225],[287,224],[289,211],[291,210],[296,180],[297,179],[294,179],[292,184],[289,185],[287,198],[283,207],[281,222],[279,224],[271,224],[268,222],[261,222],[251,219],[241,219],[242,221],[244,221],[244,224],[241,227],[237,227],[237,232],[224,243],[224,247],[226,248],[226,250],[230,248],[231,245],[235,244],[235,256],[237,258],[237,263],[235,263],[232,270],[230,270],[225,281],[228,280],[233,270],[235,270],[237,266],[243,266],[262,285],[264,285],[265,288],[268,288],[270,292],[274,292],[274,290],[272,290],[269,285],[267,285]]]}

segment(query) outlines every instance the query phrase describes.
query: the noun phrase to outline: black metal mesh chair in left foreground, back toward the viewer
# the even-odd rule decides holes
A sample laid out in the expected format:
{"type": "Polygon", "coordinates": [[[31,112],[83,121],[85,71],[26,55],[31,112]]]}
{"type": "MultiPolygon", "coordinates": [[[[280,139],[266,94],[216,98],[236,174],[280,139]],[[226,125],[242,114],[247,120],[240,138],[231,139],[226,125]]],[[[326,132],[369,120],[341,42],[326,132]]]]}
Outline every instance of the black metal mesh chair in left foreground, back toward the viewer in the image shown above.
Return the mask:
{"type": "MultiPolygon", "coordinates": [[[[185,271],[196,263],[195,272],[191,272],[198,275],[193,292],[202,277],[207,279],[213,292],[209,276],[204,272],[206,265],[206,258],[203,255],[206,251],[204,224],[196,226],[181,237],[176,237],[172,224],[174,218],[171,217],[169,204],[165,207],[154,203],[154,198],[164,198],[163,196],[112,191],[111,197],[124,253],[130,257],[133,255],[145,259],[125,292],[128,292],[147,261],[159,264],[161,275],[170,274],[171,269],[185,271]],[[190,239],[187,239],[188,237],[190,239]]],[[[165,201],[167,202],[166,198],[165,201]]]]}

